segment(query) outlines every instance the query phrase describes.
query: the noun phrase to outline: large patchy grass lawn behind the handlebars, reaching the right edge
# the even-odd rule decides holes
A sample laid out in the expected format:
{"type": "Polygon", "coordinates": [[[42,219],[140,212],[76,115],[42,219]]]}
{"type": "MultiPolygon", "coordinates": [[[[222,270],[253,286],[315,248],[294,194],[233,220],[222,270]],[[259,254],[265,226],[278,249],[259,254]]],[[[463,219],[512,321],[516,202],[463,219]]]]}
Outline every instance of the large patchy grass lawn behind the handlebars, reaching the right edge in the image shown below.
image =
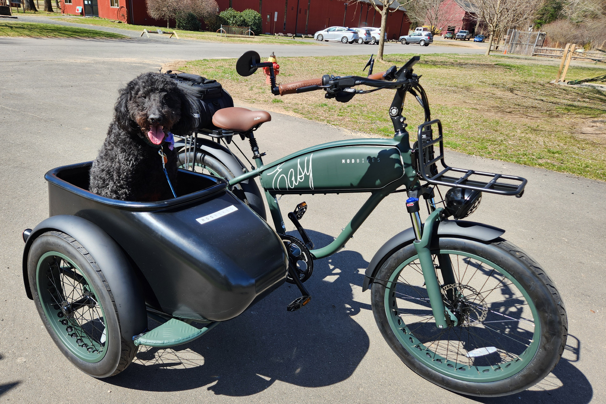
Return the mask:
{"type": "MultiPolygon", "coordinates": [[[[401,66],[413,54],[387,55],[401,66]]],[[[368,56],[279,58],[278,82],[324,74],[364,75],[368,56]]],[[[273,96],[265,76],[241,77],[235,59],[187,62],[181,70],[218,79],[235,102],[284,110],[373,135],[392,136],[387,114],[394,90],[356,95],[349,103],[325,99],[323,92],[273,96]]],[[[444,125],[451,150],[559,172],[606,180],[606,94],[596,89],[550,84],[558,61],[515,56],[423,55],[415,66],[428,93],[432,118],[444,125]]],[[[571,66],[567,79],[606,73],[604,66],[571,66]]],[[[408,130],[422,123],[421,107],[410,95],[404,104],[408,130]]]]}

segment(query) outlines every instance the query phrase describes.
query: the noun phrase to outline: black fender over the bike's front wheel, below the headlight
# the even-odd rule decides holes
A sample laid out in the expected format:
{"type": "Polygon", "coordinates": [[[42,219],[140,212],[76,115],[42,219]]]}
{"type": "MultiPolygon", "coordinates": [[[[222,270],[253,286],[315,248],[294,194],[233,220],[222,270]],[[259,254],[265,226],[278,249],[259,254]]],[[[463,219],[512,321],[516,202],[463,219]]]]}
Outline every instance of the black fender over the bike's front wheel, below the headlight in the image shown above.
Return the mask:
{"type": "MultiPolygon", "coordinates": [[[[475,221],[466,220],[445,220],[438,223],[438,230],[436,235],[438,236],[459,236],[463,238],[470,238],[471,240],[478,241],[491,241],[495,238],[501,237],[505,233],[503,229],[499,227],[489,226],[488,224],[477,223],[475,221]]],[[[391,237],[387,243],[383,244],[379,251],[376,252],[375,257],[370,260],[368,268],[365,272],[364,283],[362,283],[362,292],[368,290],[368,286],[375,278],[376,273],[381,268],[382,264],[393,254],[404,246],[412,243],[415,240],[415,232],[412,227],[406,229],[403,232],[399,232],[395,236],[391,237]]]]}

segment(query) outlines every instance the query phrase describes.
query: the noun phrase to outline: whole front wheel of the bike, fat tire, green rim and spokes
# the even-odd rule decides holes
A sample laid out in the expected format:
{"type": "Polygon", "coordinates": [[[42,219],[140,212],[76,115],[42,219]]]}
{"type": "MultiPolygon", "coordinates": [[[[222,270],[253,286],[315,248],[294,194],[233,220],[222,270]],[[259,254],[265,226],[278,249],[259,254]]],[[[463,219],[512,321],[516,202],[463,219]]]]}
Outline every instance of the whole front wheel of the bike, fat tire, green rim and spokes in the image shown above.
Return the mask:
{"type": "Polygon", "coordinates": [[[461,394],[505,396],[542,380],[567,337],[553,281],[502,239],[442,237],[436,245],[442,298],[458,324],[436,328],[417,252],[408,244],[385,257],[372,284],[375,320],[391,349],[417,374],[461,394]]]}

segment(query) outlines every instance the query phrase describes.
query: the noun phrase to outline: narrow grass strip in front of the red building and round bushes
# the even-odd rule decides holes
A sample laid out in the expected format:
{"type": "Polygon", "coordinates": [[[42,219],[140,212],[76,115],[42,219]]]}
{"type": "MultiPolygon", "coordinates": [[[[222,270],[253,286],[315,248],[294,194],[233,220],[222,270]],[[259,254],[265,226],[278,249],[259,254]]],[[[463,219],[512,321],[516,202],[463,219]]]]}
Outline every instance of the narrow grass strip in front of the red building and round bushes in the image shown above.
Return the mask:
{"type": "MultiPolygon", "coordinates": [[[[65,22],[75,22],[78,24],[88,24],[88,25],[101,25],[102,27],[113,27],[125,30],[133,30],[142,32],[144,29],[148,31],[156,31],[158,29],[162,29],[164,31],[176,30],[179,38],[183,39],[198,39],[202,41],[211,41],[211,42],[228,42],[228,43],[242,43],[246,42],[249,44],[279,44],[279,45],[319,45],[320,42],[315,41],[311,38],[306,39],[287,39],[284,37],[275,38],[273,35],[258,35],[254,38],[225,38],[225,36],[217,36],[215,32],[205,32],[205,31],[184,31],[178,30],[175,28],[166,28],[166,27],[152,27],[150,25],[133,25],[133,24],[121,24],[119,22],[112,22],[108,19],[104,18],[74,18],[74,17],[63,17],[56,18],[58,21],[65,22]]],[[[155,34],[150,34],[153,37],[155,34]]]]}

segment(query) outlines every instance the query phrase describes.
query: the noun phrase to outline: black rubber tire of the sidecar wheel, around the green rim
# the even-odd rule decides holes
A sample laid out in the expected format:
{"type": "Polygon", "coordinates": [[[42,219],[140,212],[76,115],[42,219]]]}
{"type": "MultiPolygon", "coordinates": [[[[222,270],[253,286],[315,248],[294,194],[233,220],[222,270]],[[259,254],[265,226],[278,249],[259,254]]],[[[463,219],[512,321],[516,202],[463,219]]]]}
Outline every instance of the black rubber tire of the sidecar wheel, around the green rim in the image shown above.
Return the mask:
{"type": "MultiPolygon", "coordinates": [[[[65,254],[65,255],[69,256],[68,254],[65,254]]],[[[70,257],[70,258],[73,260],[78,260],[79,257],[70,257]]],[[[85,269],[81,269],[81,270],[85,271],[85,269]]],[[[58,231],[45,232],[44,234],[40,235],[38,238],[36,238],[36,240],[32,244],[32,249],[30,249],[30,256],[28,257],[28,275],[30,278],[32,295],[34,297],[34,301],[36,302],[36,308],[38,309],[40,317],[42,318],[42,321],[44,322],[44,325],[47,328],[48,333],[53,338],[53,341],[56,343],[56,345],[59,347],[59,349],[61,349],[62,353],[67,357],[67,359],[70,360],[70,362],[72,362],[74,365],[76,365],[76,367],[78,367],[83,372],[87,373],[88,375],[91,375],[93,377],[98,377],[98,378],[110,377],[110,376],[116,375],[116,374],[124,371],[124,369],[128,368],[128,365],[130,365],[132,360],[135,358],[135,355],[138,351],[138,347],[135,346],[135,343],[133,343],[132,340],[127,341],[127,340],[125,340],[124,337],[122,337],[121,332],[120,332],[120,318],[118,315],[118,309],[116,308],[116,302],[115,302],[113,294],[112,294],[112,289],[110,289],[110,286],[107,283],[107,280],[105,280],[102,269],[99,268],[96,261],[88,253],[88,251],[82,246],[82,244],[80,244],[78,242],[78,240],[75,240],[75,238],[71,237],[70,235],[67,235],[65,233],[58,232],[58,231]],[[52,240],[52,239],[48,240],[48,238],[55,238],[55,240],[52,240]],[[56,240],[57,238],[59,240],[56,240]],[[99,283],[101,283],[103,285],[103,287],[105,289],[104,292],[107,293],[108,300],[111,301],[111,305],[102,306],[105,317],[106,318],[114,317],[112,320],[118,324],[118,335],[120,338],[121,346],[120,346],[119,360],[117,361],[118,362],[117,366],[115,365],[116,360],[113,360],[112,361],[113,363],[107,363],[107,365],[105,363],[103,363],[105,360],[105,357],[107,357],[108,354],[110,354],[110,353],[113,353],[113,357],[115,359],[118,359],[118,352],[110,352],[113,350],[112,348],[114,348],[114,346],[112,346],[112,343],[108,343],[108,352],[105,354],[106,356],[104,357],[103,360],[101,360],[101,362],[87,363],[87,362],[84,362],[84,361],[78,359],[77,357],[75,357],[75,355],[73,355],[73,353],[71,351],[69,351],[67,348],[65,348],[65,346],[60,342],[58,337],[55,335],[54,329],[48,323],[48,319],[46,318],[46,315],[44,314],[44,310],[42,309],[42,306],[41,306],[40,297],[38,295],[38,288],[36,286],[37,285],[36,266],[38,263],[38,257],[40,257],[42,254],[44,254],[44,252],[54,251],[47,247],[47,248],[45,248],[46,251],[44,251],[44,249],[42,249],[40,254],[36,254],[36,252],[38,252],[38,251],[36,251],[36,247],[39,246],[39,243],[44,244],[45,241],[50,241],[50,242],[59,241],[58,244],[61,244],[61,241],[63,241],[64,243],[67,243],[68,246],[73,247],[73,249],[75,249],[77,251],[77,253],[81,254],[82,255],[81,258],[83,258],[88,264],[90,264],[90,267],[92,268],[92,270],[95,271],[95,274],[98,277],[99,283]],[[38,245],[36,245],[37,243],[38,243],[38,245]],[[109,307],[107,307],[107,306],[109,306],[109,307]],[[95,370],[97,370],[97,369],[95,369],[95,365],[99,365],[99,367],[104,366],[105,369],[98,369],[101,372],[95,372],[95,370]],[[109,365],[109,368],[107,367],[108,365],[109,365]],[[112,368],[114,366],[115,366],[115,369],[113,369],[113,372],[112,372],[112,368]]],[[[90,276],[90,274],[87,274],[87,275],[90,276]]],[[[93,280],[91,280],[91,281],[93,281],[93,280]]],[[[93,281],[93,283],[94,282],[95,281],[93,281]]],[[[101,298],[99,298],[99,300],[101,300],[101,298]]],[[[112,320],[110,320],[110,321],[112,321],[112,320]]],[[[109,338],[108,338],[108,340],[109,340],[109,338]]],[[[108,359],[112,359],[111,355],[108,359]]]]}

